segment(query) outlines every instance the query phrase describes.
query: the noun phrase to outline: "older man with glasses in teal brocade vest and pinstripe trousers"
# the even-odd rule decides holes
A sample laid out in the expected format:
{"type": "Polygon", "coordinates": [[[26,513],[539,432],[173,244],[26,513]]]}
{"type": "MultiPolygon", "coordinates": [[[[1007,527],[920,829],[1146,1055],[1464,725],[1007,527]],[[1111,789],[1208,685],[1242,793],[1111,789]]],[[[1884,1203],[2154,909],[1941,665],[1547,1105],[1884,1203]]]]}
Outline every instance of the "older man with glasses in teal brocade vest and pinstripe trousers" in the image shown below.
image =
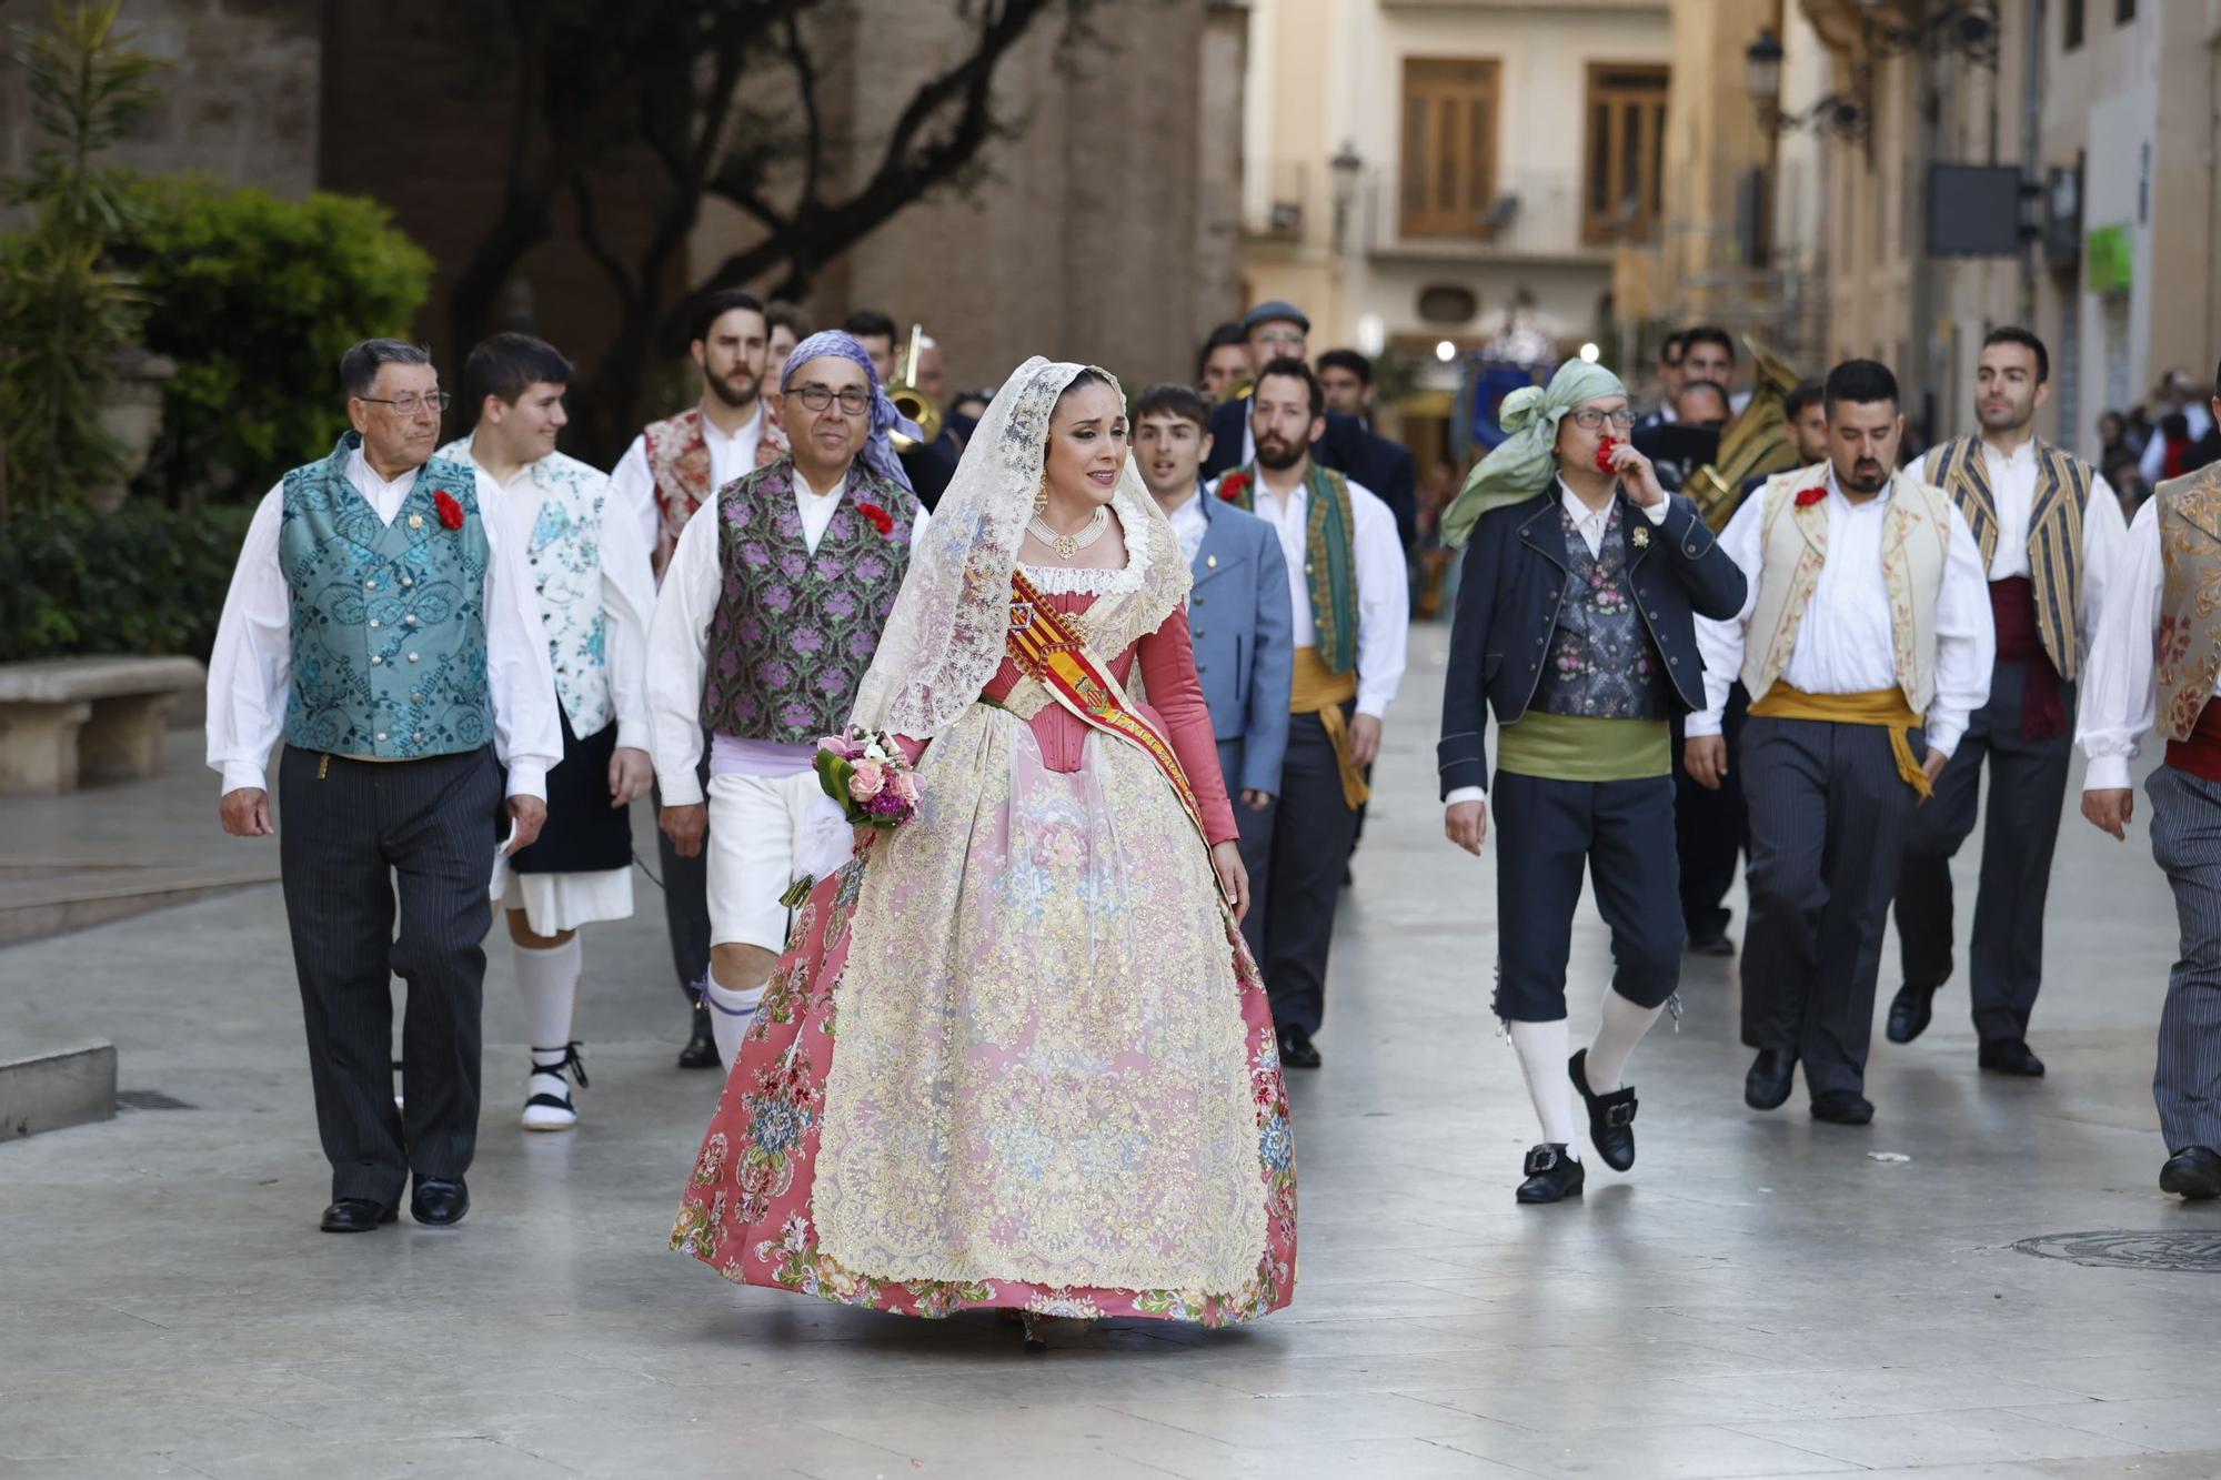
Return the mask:
{"type": "Polygon", "coordinates": [[[353,429],[264,496],[240,549],[209,767],[224,831],[269,836],[284,740],[278,851],[331,1162],[322,1227],[362,1233],[395,1218],[411,1173],[418,1222],[471,1207],[489,882],[540,833],[562,720],[524,540],[489,482],[433,456],[431,356],[364,340],[340,378],[353,429]]]}

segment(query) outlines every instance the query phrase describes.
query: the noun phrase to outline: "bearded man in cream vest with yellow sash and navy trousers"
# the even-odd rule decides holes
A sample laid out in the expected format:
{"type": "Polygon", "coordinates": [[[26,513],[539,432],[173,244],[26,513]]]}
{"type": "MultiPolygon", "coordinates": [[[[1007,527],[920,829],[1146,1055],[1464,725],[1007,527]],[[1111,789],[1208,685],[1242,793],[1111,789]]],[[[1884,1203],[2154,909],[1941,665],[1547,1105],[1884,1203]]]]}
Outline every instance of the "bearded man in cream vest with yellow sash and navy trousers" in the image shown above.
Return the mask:
{"type": "Polygon", "coordinates": [[[1934,793],[1990,693],[1981,547],[1943,489],[1892,473],[1897,378],[1828,373],[1828,464],[1777,473],[1721,544],[1750,578],[1743,611],[1699,620],[1706,709],[1688,773],[1726,773],[1721,711],[1741,673],[1750,807],[1743,1102],[1777,1109],[1806,1067],[1812,1118],[1866,1124],[1881,933],[1915,807],[1934,793]]]}

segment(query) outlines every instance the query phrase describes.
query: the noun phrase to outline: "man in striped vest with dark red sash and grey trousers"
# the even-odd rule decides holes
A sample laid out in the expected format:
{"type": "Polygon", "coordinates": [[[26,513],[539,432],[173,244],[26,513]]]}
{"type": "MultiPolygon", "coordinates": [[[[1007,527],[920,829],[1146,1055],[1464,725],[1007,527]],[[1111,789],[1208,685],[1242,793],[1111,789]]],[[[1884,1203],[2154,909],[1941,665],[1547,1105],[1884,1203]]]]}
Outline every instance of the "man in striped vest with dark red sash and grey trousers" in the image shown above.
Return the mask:
{"type": "Polygon", "coordinates": [[[2043,896],[2074,753],[2074,684],[2097,633],[2106,578],[2128,540],[2121,500],[2094,467],[2037,438],[2050,400],[2050,356],[2028,329],[1994,329],[1974,369],[1981,433],[1932,449],[1921,482],[1952,496],[1981,544],[1997,624],[1990,702],[1921,807],[1897,882],[1906,982],[1890,1002],[1890,1042],[1912,1042],[1950,978],[1950,860],[1974,831],[1983,762],[1990,807],[1968,949],[1979,1064],[2041,1076],[2028,1016],[2043,980],[2043,896]]]}

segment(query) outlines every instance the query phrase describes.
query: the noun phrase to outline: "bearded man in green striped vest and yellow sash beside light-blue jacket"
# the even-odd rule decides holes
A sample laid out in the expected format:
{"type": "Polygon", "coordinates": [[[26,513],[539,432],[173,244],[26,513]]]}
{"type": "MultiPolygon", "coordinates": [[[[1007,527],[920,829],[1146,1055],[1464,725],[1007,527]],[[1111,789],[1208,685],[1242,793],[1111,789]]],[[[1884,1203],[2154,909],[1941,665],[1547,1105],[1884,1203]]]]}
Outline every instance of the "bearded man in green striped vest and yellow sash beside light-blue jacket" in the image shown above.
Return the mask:
{"type": "Polygon", "coordinates": [[[1288,562],[1295,682],[1270,867],[1250,878],[1264,916],[1266,991],[1279,1058],[1317,1069],[1310,1036],[1326,1016],[1326,951],[1335,936],[1341,869],[1357,838],[1366,767],[1381,749],[1381,716],[1404,680],[1410,591],[1395,513],[1364,484],[1310,458],[1324,433],[1326,391],[1304,360],[1268,360],[1250,391],[1248,462],[1213,493],[1262,516],[1288,562]]]}

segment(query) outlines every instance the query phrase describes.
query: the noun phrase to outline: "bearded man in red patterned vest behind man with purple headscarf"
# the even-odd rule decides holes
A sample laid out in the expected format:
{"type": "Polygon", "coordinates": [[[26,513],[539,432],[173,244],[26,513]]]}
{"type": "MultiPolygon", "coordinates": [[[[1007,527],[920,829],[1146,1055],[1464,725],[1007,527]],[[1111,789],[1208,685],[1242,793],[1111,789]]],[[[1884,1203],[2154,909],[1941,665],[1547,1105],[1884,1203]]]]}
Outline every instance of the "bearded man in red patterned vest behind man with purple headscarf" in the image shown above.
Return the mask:
{"type": "MultiPolygon", "coordinates": [[[[771,322],[755,293],[726,289],[704,298],[695,311],[691,344],[695,369],[702,371],[702,400],[651,422],[611,473],[613,491],[640,516],[657,584],[695,509],[724,484],[786,451],[786,436],[764,404],[768,342],[771,322]]],[[[693,1000],[693,1027],[680,1049],[680,1069],[715,1069],[717,1040],[708,1009],[702,1007],[708,984],[708,873],[700,853],[682,858],[669,838],[657,838],[657,853],[664,867],[671,964],[680,989],[693,1000]]]]}

